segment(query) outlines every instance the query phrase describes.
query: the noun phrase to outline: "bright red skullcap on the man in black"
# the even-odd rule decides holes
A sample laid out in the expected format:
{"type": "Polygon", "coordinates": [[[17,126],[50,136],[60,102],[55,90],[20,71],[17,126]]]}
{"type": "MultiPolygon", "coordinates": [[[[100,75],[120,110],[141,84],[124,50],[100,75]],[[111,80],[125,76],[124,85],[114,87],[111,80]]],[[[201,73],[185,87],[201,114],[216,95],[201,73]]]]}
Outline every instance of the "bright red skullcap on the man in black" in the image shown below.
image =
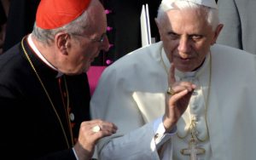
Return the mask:
{"type": "Polygon", "coordinates": [[[75,20],[88,8],[90,0],[41,0],[36,15],[37,26],[55,29],[75,20]]]}

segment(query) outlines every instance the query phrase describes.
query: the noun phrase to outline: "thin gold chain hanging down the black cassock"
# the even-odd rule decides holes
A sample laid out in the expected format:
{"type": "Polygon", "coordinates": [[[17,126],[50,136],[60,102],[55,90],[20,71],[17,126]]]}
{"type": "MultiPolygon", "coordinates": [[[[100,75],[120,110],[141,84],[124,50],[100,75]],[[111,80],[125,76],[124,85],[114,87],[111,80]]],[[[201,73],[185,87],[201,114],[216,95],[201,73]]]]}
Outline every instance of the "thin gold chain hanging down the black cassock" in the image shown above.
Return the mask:
{"type": "MultiPolygon", "coordinates": [[[[55,106],[54,106],[52,100],[51,100],[50,97],[49,97],[49,93],[48,93],[47,89],[44,87],[43,81],[41,80],[41,78],[40,78],[39,75],[38,75],[38,71],[37,71],[36,68],[33,66],[32,60],[30,59],[29,55],[26,53],[26,49],[25,49],[25,47],[24,47],[24,39],[25,39],[25,37],[23,37],[22,40],[21,40],[21,47],[22,47],[22,49],[23,49],[23,52],[24,52],[24,54],[26,55],[26,59],[29,61],[30,66],[32,66],[33,71],[36,73],[36,75],[37,75],[37,77],[38,77],[38,80],[39,80],[39,82],[41,83],[41,85],[42,85],[42,87],[43,87],[43,89],[44,89],[44,92],[45,92],[45,94],[47,95],[47,97],[48,97],[48,99],[49,99],[50,105],[52,106],[53,110],[55,111],[55,115],[56,115],[56,117],[58,118],[59,123],[61,124],[62,133],[64,134],[64,137],[65,137],[65,140],[66,140],[66,143],[67,143],[67,147],[70,148],[69,143],[68,143],[68,140],[67,140],[67,134],[66,134],[66,132],[65,132],[65,130],[64,130],[63,124],[61,123],[61,118],[60,118],[58,112],[56,111],[55,106]]],[[[65,80],[65,85],[66,85],[66,87],[67,87],[67,82],[66,82],[66,80],[65,80]]],[[[67,95],[68,95],[68,94],[67,94],[67,95]]],[[[70,122],[69,122],[69,125],[71,125],[70,122]]],[[[70,128],[70,127],[71,127],[71,126],[69,126],[69,128],[70,128]]],[[[72,143],[73,143],[73,134],[72,134],[72,130],[70,129],[70,131],[71,131],[71,137],[72,137],[72,143]]]]}

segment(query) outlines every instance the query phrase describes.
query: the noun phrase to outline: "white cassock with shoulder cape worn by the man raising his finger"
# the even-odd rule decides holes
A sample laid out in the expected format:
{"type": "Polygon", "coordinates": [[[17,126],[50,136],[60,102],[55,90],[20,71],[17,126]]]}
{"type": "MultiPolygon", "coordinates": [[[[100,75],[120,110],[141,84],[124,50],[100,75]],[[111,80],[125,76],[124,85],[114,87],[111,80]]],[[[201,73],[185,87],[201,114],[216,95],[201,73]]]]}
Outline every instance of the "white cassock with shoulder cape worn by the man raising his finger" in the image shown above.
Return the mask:
{"type": "Polygon", "coordinates": [[[137,49],[102,73],[90,102],[91,116],[113,122],[118,132],[99,140],[99,157],[106,159],[189,159],[195,122],[196,154],[205,160],[256,158],[256,57],[215,44],[200,69],[176,79],[197,85],[189,107],[177,123],[176,134],[154,131],[165,111],[170,62],[162,43],[137,49]],[[166,68],[165,68],[166,66],[166,68]],[[210,86],[210,87],[209,87],[210,86]],[[166,138],[167,137],[167,138],[166,138]],[[158,152],[158,149],[161,151],[158,152]]]}

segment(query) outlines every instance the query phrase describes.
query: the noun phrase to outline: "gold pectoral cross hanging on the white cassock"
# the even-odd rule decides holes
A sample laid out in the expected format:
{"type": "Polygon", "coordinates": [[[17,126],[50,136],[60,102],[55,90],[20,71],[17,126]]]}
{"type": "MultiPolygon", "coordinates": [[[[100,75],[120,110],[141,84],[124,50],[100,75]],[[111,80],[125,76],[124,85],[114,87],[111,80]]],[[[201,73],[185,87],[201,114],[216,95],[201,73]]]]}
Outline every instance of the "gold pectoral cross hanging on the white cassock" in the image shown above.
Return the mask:
{"type": "Polygon", "coordinates": [[[197,155],[204,154],[206,152],[203,148],[196,147],[196,130],[195,120],[192,120],[190,124],[191,139],[189,140],[189,148],[182,149],[180,152],[183,155],[190,155],[190,160],[197,160],[197,155]]]}

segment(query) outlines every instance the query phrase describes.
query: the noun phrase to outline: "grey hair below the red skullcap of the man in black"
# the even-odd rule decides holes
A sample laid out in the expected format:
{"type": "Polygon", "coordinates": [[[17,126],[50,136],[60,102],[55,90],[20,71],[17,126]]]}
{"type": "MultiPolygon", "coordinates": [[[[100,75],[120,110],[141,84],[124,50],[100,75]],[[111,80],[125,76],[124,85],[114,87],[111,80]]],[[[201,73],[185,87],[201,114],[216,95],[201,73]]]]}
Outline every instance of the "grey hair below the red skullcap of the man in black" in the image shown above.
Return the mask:
{"type": "Polygon", "coordinates": [[[37,26],[36,22],[33,26],[32,35],[38,39],[41,43],[50,44],[54,41],[55,34],[61,31],[65,31],[69,34],[81,35],[84,30],[90,27],[89,12],[86,9],[83,14],[81,14],[77,19],[68,23],[65,26],[61,26],[55,29],[42,29],[37,26]]]}

